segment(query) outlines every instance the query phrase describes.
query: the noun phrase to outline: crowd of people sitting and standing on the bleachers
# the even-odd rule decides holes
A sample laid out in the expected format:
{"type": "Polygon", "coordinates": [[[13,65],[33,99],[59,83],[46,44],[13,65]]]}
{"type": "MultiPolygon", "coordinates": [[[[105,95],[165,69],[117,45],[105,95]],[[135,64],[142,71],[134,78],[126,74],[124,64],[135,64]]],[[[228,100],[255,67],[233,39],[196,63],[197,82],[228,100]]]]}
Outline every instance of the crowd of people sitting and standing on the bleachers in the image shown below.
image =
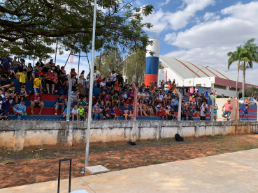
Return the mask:
{"type": "MultiPolygon", "coordinates": [[[[99,93],[94,97],[92,105],[92,120],[118,120],[117,111],[122,110],[119,116],[124,116],[125,120],[133,118],[133,111],[136,110],[136,116],[160,116],[162,120],[176,121],[178,120],[178,95],[189,98],[182,99],[181,118],[184,120],[193,121],[196,114],[200,120],[206,120],[208,113],[208,89],[206,92],[199,93],[197,87],[185,88],[178,87],[175,80],[169,79],[165,81],[150,82],[150,86],[145,84],[137,84],[128,82],[124,79],[122,73],[116,74],[112,71],[110,77],[102,77],[100,72],[94,67],[94,88],[99,88],[99,93]],[[99,73],[97,73],[99,72],[99,73]],[[137,101],[135,101],[135,88],[137,89],[137,101]],[[177,88],[177,89],[175,89],[177,88]],[[136,103],[136,109],[134,104],[136,103]]],[[[71,107],[68,107],[69,101],[64,99],[64,95],[68,93],[69,81],[66,76],[64,66],[60,68],[55,65],[51,59],[44,64],[42,59],[32,69],[31,64],[25,65],[24,59],[17,61],[14,57],[10,59],[9,55],[1,59],[1,83],[0,83],[0,105],[1,118],[8,120],[8,112],[10,104],[15,102],[13,111],[18,116],[26,114],[24,100],[29,98],[26,92],[26,84],[28,81],[33,83],[33,91],[31,91],[30,107],[31,115],[34,115],[34,107],[40,108],[41,115],[44,108],[42,94],[56,95],[59,97],[55,100],[55,115],[58,109],[61,109],[63,119],[66,119],[69,109],[71,120],[85,120],[88,117],[88,98],[89,98],[89,78],[90,74],[85,77],[85,72],[80,75],[75,69],[71,69],[71,107]],[[6,74],[6,75],[5,75],[6,74]],[[15,90],[15,84],[11,82],[12,78],[19,79],[20,91],[15,90]],[[63,90],[64,93],[60,93],[63,90]],[[75,105],[73,105],[76,103],[75,105]]],[[[211,98],[217,98],[217,91],[210,90],[211,98]]],[[[224,98],[224,95],[222,95],[224,98]]],[[[227,106],[227,105],[226,105],[227,106]]],[[[217,105],[215,104],[214,114],[217,115],[217,105]]]]}

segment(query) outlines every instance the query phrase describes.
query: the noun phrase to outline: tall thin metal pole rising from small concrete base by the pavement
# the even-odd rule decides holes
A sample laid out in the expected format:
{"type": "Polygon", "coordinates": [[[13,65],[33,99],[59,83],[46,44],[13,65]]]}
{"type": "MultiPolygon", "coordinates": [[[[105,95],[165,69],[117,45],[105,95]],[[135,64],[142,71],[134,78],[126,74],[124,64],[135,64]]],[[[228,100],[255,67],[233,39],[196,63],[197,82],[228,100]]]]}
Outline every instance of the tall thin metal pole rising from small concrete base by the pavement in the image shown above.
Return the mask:
{"type": "Polygon", "coordinates": [[[92,93],[93,93],[93,78],[94,78],[94,51],[95,51],[95,31],[96,31],[96,0],[94,0],[94,17],[93,17],[93,29],[92,29],[92,63],[90,68],[90,80],[89,80],[89,109],[88,109],[88,121],[87,121],[87,141],[86,141],[86,157],[85,168],[89,164],[89,137],[90,137],[90,123],[92,118],[92,93]]]}

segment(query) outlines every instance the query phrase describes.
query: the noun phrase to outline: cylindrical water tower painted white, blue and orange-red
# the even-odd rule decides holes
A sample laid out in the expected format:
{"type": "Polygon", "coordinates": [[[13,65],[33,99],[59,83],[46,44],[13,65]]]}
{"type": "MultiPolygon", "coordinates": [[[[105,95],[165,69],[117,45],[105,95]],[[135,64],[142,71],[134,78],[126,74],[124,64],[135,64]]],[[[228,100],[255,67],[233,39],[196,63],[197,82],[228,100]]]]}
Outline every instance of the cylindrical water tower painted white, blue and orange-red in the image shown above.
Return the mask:
{"type": "Polygon", "coordinates": [[[160,31],[153,30],[149,33],[149,40],[152,45],[148,45],[145,60],[145,86],[150,86],[150,82],[157,82],[159,76],[159,40],[160,31]],[[150,52],[154,52],[153,55],[150,52]]]}

